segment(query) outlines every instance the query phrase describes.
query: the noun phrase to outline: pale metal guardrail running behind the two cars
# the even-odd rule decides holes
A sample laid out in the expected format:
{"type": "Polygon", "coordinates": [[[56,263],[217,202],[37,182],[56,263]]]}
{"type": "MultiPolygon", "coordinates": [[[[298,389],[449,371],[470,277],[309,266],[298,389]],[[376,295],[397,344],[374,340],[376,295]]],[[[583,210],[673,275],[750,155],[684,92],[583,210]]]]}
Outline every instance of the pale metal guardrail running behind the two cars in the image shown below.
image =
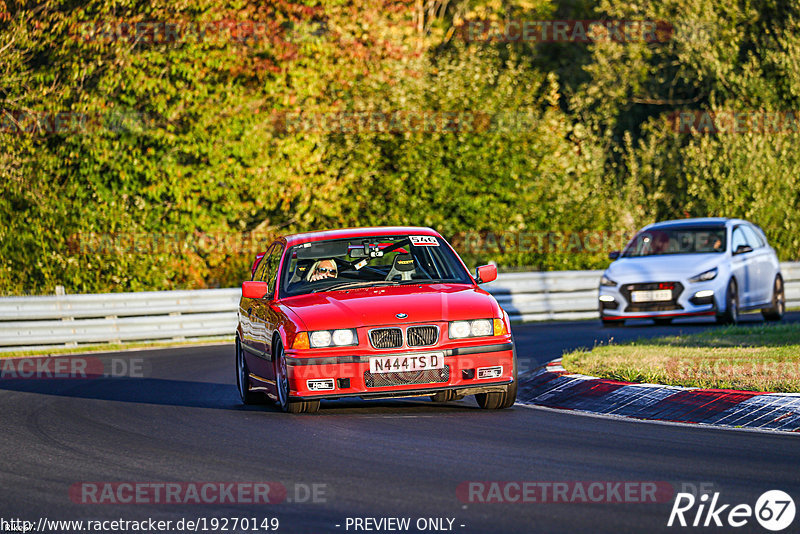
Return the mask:
{"type": "MultiPolygon", "coordinates": [[[[800,263],[782,263],[800,306],[800,263]]],[[[602,271],[501,274],[484,286],[512,321],[597,318],[602,271]]],[[[0,298],[0,351],[232,335],[241,289],[0,298]]]]}

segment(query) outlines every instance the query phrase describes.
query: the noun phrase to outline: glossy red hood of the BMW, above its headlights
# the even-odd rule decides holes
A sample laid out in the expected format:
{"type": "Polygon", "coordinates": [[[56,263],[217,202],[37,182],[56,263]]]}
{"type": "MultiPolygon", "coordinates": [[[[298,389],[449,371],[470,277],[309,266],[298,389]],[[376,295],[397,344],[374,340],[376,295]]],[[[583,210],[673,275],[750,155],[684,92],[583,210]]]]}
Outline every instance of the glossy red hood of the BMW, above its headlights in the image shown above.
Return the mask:
{"type": "Polygon", "coordinates": [[[498,317],[486,291],[464,284],[370,287],[283,299],[307,330],[498,317]],[[397,314],[407,317],[398,318],[397,314]]]}

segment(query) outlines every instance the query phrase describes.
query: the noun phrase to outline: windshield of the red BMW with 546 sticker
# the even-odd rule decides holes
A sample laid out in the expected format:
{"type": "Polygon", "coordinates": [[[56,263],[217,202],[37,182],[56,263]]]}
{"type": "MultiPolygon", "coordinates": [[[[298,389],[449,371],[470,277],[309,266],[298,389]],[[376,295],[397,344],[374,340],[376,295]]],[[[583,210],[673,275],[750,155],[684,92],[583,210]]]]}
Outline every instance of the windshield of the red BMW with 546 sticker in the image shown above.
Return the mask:
{"type": "Polygon", "coordinates": [[[472,279],[435,236],[376,236],[314,241],[284,256],[283,296],[356,287],[462,283],[472,279]]]}

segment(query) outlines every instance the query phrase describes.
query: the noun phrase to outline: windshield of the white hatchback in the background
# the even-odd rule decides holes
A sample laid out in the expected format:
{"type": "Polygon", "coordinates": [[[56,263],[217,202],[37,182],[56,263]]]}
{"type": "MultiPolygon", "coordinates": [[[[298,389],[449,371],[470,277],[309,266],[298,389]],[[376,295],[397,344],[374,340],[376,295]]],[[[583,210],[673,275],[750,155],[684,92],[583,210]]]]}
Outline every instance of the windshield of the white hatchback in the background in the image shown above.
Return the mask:
{"type": "Polygon", "coordinates": [[[622,256],[663,256],[666,254],[708,254],[725,252],[725,227],[663,228],[644,230],[634,237],[622,256]]]}

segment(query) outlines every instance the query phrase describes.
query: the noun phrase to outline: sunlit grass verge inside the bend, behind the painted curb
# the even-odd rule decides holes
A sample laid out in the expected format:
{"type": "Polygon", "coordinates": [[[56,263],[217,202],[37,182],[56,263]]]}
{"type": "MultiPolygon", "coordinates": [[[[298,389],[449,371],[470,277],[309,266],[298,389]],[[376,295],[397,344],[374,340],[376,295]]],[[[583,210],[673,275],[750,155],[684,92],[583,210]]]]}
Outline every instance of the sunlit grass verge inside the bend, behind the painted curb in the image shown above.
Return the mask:
{"type": "Polygon", "coordinates": [[[571,373],[712,389],[800,393],[800,324],[726,327],[565,354],[571,373]]]}

